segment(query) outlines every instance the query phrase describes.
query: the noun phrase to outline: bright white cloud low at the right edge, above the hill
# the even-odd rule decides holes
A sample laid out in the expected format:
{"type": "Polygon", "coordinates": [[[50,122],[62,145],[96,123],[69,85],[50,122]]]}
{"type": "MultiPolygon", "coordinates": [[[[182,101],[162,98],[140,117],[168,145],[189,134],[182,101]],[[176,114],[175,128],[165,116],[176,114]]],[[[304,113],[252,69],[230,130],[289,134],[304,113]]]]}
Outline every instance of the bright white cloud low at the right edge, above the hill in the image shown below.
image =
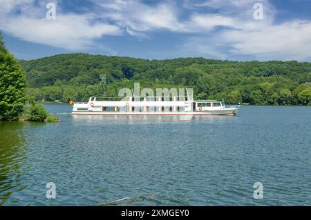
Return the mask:
{"type": "Polygon", "coordinates": [[[311,57],[311,22],[291,21],[258,30],[229,30],[218,35],[233,54],[252,54],[260,60],[303,60],[311,57]]]}

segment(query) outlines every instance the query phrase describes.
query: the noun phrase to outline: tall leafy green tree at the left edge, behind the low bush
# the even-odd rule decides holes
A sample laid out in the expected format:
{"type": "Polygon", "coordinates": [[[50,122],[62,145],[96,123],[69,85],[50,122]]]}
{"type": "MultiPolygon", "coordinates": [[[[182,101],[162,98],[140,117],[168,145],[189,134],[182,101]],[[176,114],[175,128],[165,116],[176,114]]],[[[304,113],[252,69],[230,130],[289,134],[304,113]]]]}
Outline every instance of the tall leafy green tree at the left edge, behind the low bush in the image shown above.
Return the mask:
{"type": "Polygon", "coordinates": [[[15,121],[26,103],[26,78],[0,35],[0,119],[15,121]]]}

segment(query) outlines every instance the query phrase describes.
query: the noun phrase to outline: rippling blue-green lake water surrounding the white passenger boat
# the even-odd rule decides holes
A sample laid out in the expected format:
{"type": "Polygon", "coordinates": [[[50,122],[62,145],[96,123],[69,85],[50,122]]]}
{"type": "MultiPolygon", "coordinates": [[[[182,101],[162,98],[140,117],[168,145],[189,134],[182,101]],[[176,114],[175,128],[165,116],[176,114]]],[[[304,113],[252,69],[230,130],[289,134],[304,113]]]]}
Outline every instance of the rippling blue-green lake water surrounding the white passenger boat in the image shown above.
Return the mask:
{"type": "Polygon", "coordinates": [[[236,117],[46,108],[62,122],[0,122],[2,206],[311,206],[310,107],[242,106],[236,117]]]}

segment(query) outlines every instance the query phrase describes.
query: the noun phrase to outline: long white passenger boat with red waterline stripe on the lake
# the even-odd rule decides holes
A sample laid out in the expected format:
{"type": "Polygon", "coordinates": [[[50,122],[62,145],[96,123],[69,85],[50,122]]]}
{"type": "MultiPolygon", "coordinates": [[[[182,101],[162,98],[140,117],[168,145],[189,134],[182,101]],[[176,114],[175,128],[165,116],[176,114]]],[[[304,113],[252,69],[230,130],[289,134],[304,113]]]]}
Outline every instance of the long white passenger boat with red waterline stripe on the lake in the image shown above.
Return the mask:
{"type": "Polygon", "coordinates": [[[102,115],[236,115],[240,106],[225,106],[224,101],[190,100],[189,97],[173,97],[142,100],[129,97],[125,101],[107,101],[91,97],[87,103],[74,103],[72,114],[102,115]]]}

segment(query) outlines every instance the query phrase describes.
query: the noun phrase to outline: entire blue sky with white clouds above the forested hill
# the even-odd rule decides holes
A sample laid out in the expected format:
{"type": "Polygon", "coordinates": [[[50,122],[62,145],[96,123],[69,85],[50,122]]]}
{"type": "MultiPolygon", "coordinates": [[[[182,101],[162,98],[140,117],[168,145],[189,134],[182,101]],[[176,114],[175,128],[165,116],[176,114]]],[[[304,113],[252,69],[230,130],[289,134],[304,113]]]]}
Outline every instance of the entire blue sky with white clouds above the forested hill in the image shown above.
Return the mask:
{"type": "Polygon", "coordinates": [[[311,0],[0,0],[0,30],[18,59],[86,52],[311,61],[310,10],[311,0]],[[55,20],[46,19],[47,3],[55,20]],[[254,18],[255,3],[263,19],[254,18]]]}

